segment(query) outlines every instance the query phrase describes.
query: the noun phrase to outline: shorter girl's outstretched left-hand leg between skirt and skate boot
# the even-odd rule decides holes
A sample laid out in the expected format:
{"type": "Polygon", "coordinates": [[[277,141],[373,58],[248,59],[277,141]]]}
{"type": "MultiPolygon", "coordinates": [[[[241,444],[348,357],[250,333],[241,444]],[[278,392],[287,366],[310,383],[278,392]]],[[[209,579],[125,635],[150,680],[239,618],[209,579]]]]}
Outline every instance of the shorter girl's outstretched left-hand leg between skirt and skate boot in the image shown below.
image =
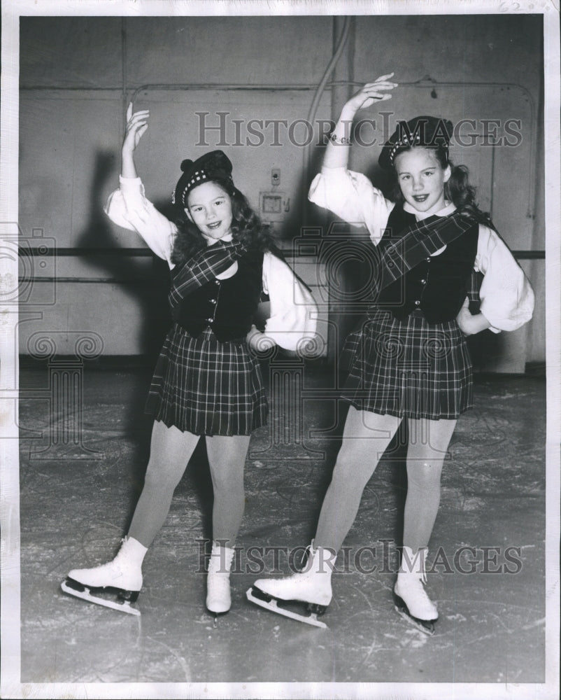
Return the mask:
{"type": "Polygon", "coordinates": [[[173,491],[187,468],[200,436],[155,421],[144,487],[129,528],[129,537],[150,547],[169,513],[173,491]]]}

